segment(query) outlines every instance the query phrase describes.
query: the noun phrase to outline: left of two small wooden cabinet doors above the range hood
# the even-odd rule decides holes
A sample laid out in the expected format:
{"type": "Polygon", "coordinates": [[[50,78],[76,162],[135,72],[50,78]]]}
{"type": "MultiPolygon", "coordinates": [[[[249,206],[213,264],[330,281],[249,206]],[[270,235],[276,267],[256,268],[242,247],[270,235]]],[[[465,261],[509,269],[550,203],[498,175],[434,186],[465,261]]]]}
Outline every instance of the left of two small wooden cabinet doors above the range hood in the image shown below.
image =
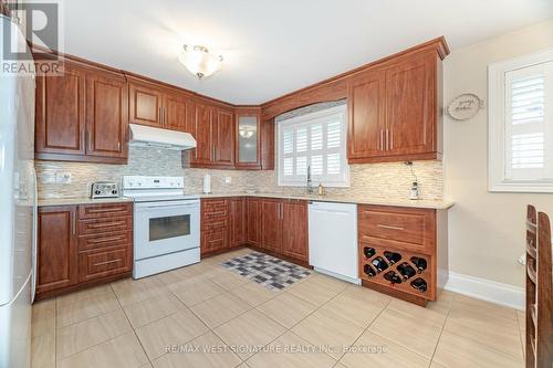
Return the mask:
{"type": "Polygon", "coordinates": [[[129,120],[132,124],[161,127],[163,94],[154,85],[129,84],[129,120]]]}

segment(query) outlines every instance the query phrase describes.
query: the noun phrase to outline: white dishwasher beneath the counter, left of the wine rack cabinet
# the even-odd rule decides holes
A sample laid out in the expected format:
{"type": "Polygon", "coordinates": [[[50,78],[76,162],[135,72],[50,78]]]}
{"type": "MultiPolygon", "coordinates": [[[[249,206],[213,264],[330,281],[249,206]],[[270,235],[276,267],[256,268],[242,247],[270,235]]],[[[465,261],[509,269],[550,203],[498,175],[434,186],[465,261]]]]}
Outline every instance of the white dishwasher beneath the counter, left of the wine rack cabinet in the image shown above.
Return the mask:
{"type": "Polygon", "coordinates": [[[310,202],[309,246],[315,271],[359,284],[357,204],[310,202]]]}

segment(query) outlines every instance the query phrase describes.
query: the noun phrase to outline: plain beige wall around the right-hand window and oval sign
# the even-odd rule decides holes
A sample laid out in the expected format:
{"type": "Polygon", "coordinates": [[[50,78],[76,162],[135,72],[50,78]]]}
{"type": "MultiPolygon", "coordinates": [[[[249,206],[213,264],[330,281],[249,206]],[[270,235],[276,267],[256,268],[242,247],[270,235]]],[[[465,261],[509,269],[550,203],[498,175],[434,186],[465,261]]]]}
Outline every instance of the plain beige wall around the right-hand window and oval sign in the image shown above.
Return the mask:
{"type": "MultiPolygon", "coordinates": [[[[488,65],[553,48],[553,19],[455,50],[445,62],[445,103],[461,93],[488,102],[488,65]]],[[[465,122],[445,118],[445,198],[449,212],[450,271],[519,287],[524,267],[526,203],[553,215],[553,194],[487,191],[488,111],[465,122]]]]}

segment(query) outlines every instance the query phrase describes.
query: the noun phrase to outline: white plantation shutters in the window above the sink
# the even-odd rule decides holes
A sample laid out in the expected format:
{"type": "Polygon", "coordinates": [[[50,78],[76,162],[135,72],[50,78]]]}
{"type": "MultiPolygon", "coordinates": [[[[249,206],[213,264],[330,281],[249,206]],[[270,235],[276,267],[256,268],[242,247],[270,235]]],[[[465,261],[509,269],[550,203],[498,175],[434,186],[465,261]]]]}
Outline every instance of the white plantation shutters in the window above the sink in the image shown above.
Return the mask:
{"type": "Polygon", "coordinates": [[[349,185],[345,151],[346,106],[337,106],[279,123],[279,185],[349,185]]]}

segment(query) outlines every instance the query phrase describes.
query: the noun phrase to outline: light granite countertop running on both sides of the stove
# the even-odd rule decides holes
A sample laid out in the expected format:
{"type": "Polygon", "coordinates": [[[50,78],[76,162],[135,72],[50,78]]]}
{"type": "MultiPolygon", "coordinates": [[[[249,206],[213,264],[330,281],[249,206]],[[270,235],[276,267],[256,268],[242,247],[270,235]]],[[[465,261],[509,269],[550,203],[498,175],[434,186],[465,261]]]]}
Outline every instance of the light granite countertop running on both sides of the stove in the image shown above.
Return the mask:
{"type": "MultiPolygon", "coordinates": [[[[447,210],[453,206],[450,200],[409,200],[409,199],[385,199],[385,198],[366,198],[366,197],[346,197],[346,196],[298,196],[285,193],[248,193],[248,192],[221,192],[221,193],[187,193],[198,196],[198,198],[228,198],[228,197],[265,197],[280,199],[301,199],[321,202],[337,202],[337,203],[357,203],[357,204],[380,204],[393,207],[410,207],[410,208],[428,208],[435,210],[447,210]]],[[[39,199],[39,206],[71,206],[71,204],[93,204],[93,203],[117,203],[133,202],[132,198],[98,198],[91,199],[87,197],[65,197],[65,198],[43,198],[39,199]]]]}

